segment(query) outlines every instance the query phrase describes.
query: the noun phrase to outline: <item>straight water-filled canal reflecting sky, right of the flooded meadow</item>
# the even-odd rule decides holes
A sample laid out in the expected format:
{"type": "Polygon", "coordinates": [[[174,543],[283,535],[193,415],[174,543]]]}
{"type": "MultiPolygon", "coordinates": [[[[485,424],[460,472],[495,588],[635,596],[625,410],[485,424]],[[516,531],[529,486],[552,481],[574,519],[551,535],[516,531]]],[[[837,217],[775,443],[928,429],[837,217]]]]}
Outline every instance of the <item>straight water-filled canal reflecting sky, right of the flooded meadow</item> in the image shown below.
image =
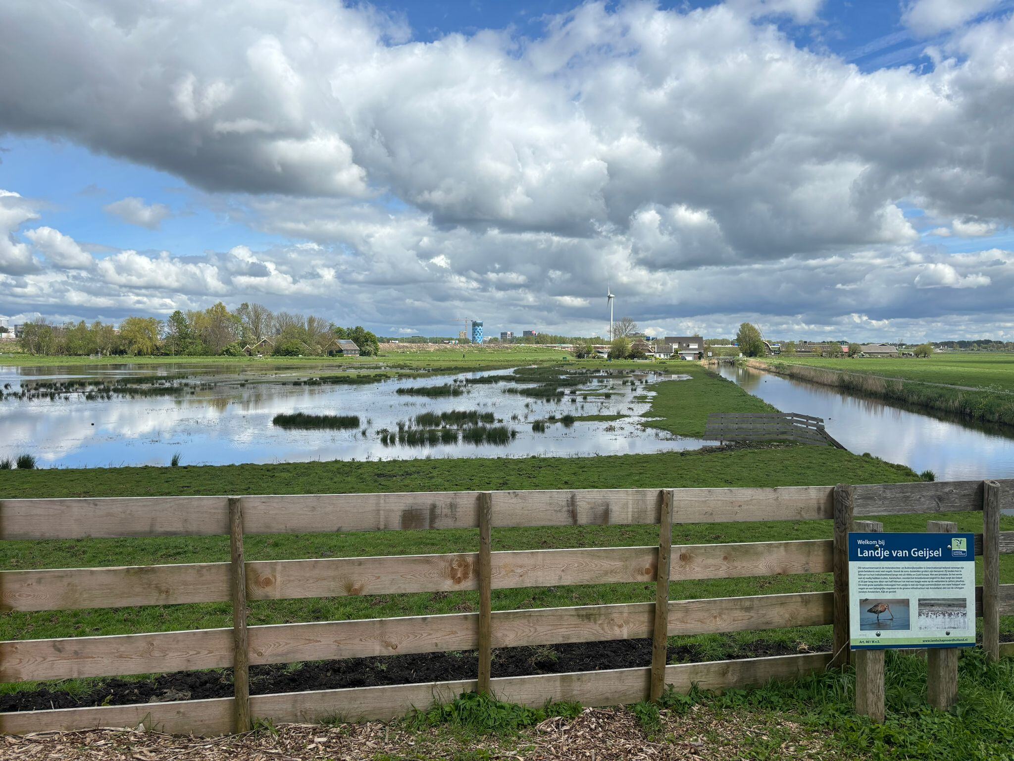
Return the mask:
{"type": "Polygon", "coordinates": [[[1014,428],[906,408],[838,389],[722,364],[719,372],[785,412],[822,417],[827,432],[855,453],[868,452],[939,480],[1014,477],[1014,428]]]}

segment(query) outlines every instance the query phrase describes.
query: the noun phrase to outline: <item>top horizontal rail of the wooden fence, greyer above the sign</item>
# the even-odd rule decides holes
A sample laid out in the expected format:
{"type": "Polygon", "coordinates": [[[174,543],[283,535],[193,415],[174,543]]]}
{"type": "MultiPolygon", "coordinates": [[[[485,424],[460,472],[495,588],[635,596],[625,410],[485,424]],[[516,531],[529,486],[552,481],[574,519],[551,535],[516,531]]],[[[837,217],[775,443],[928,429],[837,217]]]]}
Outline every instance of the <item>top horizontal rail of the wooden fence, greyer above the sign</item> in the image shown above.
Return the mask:
{"type": "MultiPolygon", "coordinates": [[[[1014,479],[1000,482],[1014,508],[1014,479]]],[[[678,523],[831,517],[829,486],[677,489],[678,523]]],[[[858,515],[981,510],[982,481],[856,486],[858,515]]],[[[242,497],[245,533],[476,529],[478,492],[242,497]]],[[[495,491],[495,528],[657,524],[659,489],[495,491]]],[[[226,497],[0,500],[0,540],[228,534],[226,497]]]]}

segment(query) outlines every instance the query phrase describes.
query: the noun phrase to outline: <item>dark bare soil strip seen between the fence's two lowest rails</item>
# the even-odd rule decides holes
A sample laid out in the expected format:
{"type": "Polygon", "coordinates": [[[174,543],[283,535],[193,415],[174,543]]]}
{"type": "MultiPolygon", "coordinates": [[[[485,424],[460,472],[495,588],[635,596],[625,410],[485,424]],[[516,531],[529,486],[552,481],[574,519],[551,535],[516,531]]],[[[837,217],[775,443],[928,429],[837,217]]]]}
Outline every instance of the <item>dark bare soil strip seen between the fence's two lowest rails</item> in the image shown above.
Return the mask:
{"type": "MultiPolygon", "coordinates": [[[[797,650],[783,644],[753,642],[734,653],[734,658],[789,654],[797,654],[797,650]]],[[[695,647],[669,647],[669,663],[701,660],[701,652],[695,647]]],[[[650,665],[650,639],[542,647],[501,647],[493,653],[493,677],[631,669],[650,665]]],[[[475,679],[478,670],[479,658],[475,650],[319,661],[289,666],[254,666],[250,667],[250,694],[447,682],[475,679]]],[[[176,672],[151,679],[96,680],[94,688],[83,694],[71,694],[66,690],[51,690],[42,686],[30,692],[0,695],[0,711],[83,708],[231,696],[232,671],[222,669],[176,672]]]]}

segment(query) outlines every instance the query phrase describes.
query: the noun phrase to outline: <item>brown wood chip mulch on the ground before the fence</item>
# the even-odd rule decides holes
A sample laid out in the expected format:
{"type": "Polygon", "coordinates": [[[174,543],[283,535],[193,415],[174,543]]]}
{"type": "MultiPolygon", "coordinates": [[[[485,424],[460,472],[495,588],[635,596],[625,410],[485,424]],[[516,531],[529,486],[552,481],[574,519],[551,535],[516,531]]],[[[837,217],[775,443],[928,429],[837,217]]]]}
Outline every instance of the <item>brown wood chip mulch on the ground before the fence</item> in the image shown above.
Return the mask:
{"type": "Polygon", "coordinates": [[[93,730],[0,738],[0,759],[18,761],[734,761],[755,757],[837,758],[818,735],[785,716],[717,715],[698,706],[684,716],[662,712],[648,736],[624,708],[587,708],[577,718],[551,718],[513,738],[469,739],[447,728],[410,732],[380,722],[279,724],[241,736],[192,738],[145,730],[93,730]],[[771,745],[774,743],[775,748],[771,745]],[[488,755],[484,755],[485,751],[488,755]],[[755,751],[754,751],[755,752],[755,751]]]}

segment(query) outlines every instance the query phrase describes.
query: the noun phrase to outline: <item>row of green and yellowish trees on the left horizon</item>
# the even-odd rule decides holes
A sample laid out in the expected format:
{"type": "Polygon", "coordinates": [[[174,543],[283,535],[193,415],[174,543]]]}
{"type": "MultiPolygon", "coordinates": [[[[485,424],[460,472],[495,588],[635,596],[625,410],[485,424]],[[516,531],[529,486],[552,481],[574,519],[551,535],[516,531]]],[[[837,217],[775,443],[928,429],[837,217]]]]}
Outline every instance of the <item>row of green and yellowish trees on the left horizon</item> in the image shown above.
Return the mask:
{"type": "Polygon", "coordinates": [[[24,324],[19,342],[30,354],[238,356],[245,346],[266,338],[271,344],[259,346],[258,351],[280,356],[323,354],[341,338],[353,341],[364,356],[375,355],[380,348],[377,337],[361,326],[341,328],[312,315],[275,314],[258,303],[243,302],[229,312],[221,301],[203,310],[176,309],[164,322],[127,318],[119,330],[97,321],[53,325],[37,320],[24,324]]]}

